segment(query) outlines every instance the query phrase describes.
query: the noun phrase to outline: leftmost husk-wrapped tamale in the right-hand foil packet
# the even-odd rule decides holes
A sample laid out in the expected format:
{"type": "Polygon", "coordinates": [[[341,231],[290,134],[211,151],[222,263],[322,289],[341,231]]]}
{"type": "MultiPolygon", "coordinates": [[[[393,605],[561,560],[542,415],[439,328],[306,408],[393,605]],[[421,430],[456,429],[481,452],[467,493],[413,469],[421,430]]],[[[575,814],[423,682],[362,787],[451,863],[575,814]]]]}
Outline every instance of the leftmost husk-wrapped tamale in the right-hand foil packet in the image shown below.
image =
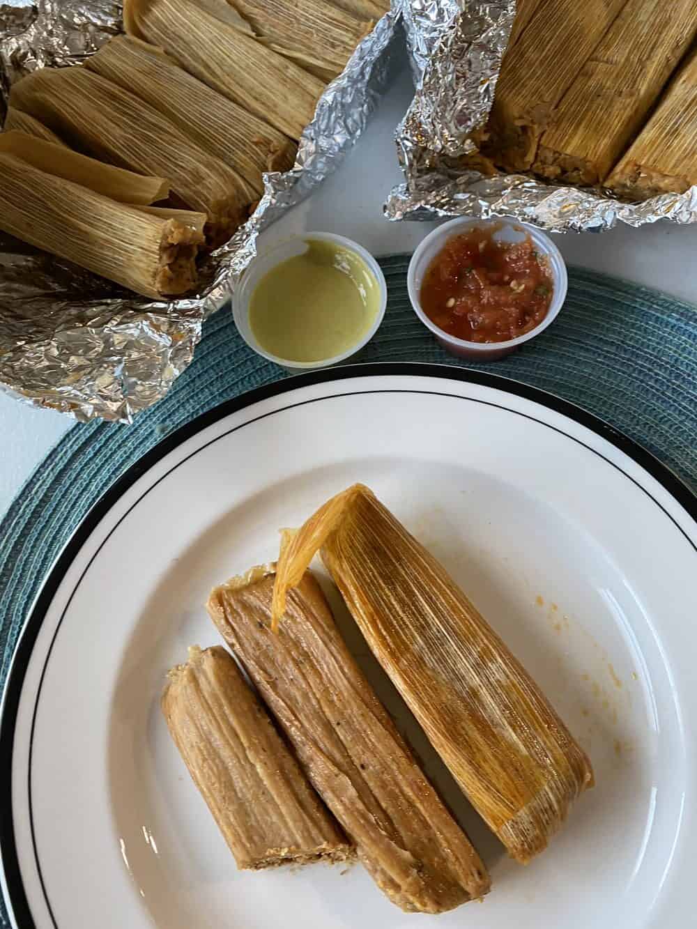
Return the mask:
{"type": "Polygon", "coordinates": [[[550,113],[572,85],[626,0],[541,0],[506,52],[483,153],[506,171],[526,171],[550,113]]]}

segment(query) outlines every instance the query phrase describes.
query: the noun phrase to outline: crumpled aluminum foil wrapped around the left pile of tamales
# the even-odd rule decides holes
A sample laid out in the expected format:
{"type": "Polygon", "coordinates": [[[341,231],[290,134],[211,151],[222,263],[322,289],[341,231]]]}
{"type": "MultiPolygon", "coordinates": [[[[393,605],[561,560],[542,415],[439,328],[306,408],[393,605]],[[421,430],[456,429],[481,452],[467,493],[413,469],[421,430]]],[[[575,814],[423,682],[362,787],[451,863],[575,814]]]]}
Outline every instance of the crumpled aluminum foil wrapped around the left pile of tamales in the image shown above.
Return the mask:
{"type": "MultiPolygon", "coordinates": [[[[138,297],[0,233],[0,389],[37,406],[130,422],[191,363],[204,319],[230,297],[256,239],[340,164],[388,80],[388,13],[327,87],[296,164],[265,176],[253,216],[206,260],[200,293],[171,302],[138,297]]],[[[10,85],[44,67],[79,64],[120,33],[111,0],[0,0],[0,122],[10,85]]]]}

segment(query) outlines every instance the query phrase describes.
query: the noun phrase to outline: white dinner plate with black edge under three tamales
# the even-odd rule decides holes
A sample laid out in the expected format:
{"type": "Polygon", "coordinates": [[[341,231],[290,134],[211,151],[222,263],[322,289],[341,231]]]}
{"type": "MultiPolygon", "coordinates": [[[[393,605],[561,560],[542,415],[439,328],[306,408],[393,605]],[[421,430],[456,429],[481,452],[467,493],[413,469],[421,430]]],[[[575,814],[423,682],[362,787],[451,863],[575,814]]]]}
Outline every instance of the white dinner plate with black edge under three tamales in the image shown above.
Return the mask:
{"type": "Polygon", "coordinates": [[[85,519],[21,639],[0,755],[15,924],[694,925],[694,506],[585,413],[453,369],[310,374],[167,438],[85,519]],[[427,757],[493,875],[483,904],[439,917],[401,913],[360,867],[237,872],[158,708],[166,669],[217,642],[208,589],[357,480],[462,583],[598,779],[521,868],[427,757]]]}

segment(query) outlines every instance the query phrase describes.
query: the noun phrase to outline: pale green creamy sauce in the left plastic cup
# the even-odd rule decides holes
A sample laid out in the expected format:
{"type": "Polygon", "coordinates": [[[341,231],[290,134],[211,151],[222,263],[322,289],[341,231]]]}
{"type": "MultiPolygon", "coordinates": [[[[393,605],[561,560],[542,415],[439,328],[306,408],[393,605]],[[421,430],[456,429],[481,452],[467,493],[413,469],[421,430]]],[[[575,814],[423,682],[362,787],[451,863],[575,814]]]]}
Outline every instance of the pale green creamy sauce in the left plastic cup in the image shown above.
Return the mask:
{"type": "Polygon", "coordinates": [[[380,287],[362,259],[335,242],[307,239],[307,251],[272,268],[249,301],[259,346],[287,361],[324,361],[369,332],[380,287]]]}

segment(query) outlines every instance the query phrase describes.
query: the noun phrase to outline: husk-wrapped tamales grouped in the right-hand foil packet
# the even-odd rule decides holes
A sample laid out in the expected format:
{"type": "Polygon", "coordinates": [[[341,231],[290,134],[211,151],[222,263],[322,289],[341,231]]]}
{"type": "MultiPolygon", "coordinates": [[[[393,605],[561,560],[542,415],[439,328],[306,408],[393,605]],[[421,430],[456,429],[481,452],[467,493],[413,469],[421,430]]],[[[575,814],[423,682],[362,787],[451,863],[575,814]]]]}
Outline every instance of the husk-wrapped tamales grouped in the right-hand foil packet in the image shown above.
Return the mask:
{"type": "Polygon", "coordinates": [[[694,0],[519,0],[479,164],[467,165],[639,200],[687,190],[696,35],[694,0]]]}

